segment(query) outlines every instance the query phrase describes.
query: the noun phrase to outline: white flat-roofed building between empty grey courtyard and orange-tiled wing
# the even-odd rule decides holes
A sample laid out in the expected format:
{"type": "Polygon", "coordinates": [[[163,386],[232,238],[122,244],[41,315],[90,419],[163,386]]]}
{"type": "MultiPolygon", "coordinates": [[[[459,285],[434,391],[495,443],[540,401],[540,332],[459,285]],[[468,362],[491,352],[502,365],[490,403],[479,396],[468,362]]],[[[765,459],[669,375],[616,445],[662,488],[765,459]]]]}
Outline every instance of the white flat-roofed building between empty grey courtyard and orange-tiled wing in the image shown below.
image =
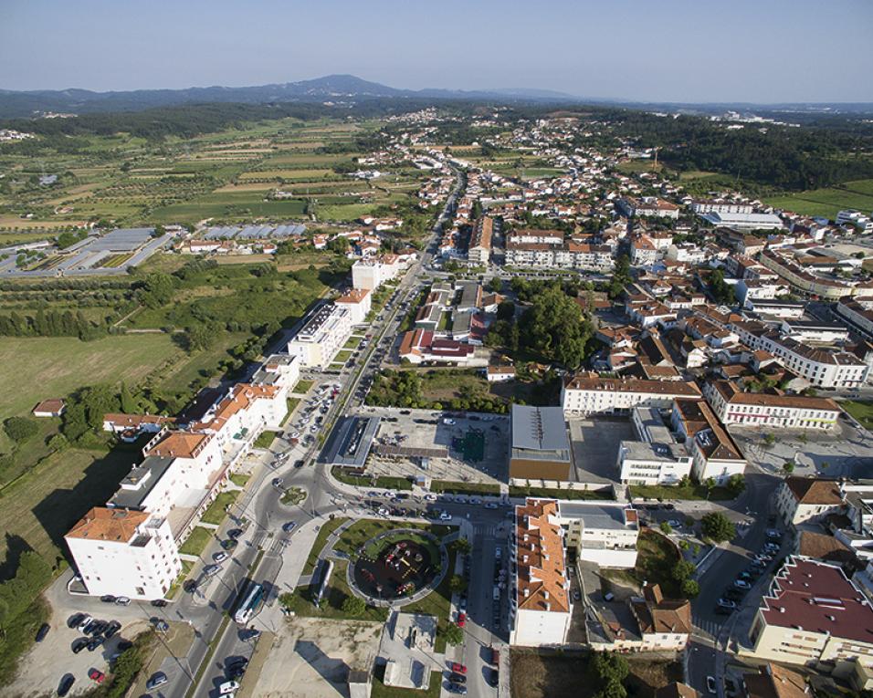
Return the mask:
{"type": "Polygon", "coordinates": [[[616,466],[621,483],[678,484],[691,474],[688,448],[677,443],[657,409],[635,407],[631,422],[639,440],[619,444],[616,466]]]}

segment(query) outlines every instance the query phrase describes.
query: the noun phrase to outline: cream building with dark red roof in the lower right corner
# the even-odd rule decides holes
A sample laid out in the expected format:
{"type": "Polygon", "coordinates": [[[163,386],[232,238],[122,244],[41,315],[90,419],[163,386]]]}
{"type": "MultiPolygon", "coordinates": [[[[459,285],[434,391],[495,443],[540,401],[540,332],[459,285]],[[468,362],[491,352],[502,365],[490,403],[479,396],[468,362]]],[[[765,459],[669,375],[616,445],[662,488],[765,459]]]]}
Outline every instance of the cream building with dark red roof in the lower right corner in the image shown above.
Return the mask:
{"type": "Polygon", "coordinates": [[[764,595],[750,632],[756,660],[828,672],[873,666],[873,609],[836,565],[788,557],[764,595]]]}

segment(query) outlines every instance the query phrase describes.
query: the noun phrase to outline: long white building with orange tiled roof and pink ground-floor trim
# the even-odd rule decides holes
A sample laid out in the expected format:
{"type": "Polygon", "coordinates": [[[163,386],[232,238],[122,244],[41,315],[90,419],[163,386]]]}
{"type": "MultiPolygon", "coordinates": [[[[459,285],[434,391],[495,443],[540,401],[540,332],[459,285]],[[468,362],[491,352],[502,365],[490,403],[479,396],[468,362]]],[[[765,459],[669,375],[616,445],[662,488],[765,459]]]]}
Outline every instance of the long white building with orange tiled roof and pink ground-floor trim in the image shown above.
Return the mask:
{"type": "Polygon", "coordinates": [[[840,409],[830,398],[742,392],[734,383],[715,380],[707,397],[722,424],[773,429],[834,429],[840,409]]]}

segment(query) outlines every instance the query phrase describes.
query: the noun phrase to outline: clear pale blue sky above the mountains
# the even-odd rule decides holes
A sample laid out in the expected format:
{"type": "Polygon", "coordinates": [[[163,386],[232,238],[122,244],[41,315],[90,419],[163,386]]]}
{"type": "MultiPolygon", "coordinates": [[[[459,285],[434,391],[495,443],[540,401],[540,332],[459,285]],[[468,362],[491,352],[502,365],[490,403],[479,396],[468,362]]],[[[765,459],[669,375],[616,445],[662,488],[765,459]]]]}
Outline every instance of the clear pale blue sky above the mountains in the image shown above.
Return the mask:
{"type": "Polygon", "coordinates": [[[871,0],[0,0],[0,89],[394,88],[873,101],[871,0]]]}

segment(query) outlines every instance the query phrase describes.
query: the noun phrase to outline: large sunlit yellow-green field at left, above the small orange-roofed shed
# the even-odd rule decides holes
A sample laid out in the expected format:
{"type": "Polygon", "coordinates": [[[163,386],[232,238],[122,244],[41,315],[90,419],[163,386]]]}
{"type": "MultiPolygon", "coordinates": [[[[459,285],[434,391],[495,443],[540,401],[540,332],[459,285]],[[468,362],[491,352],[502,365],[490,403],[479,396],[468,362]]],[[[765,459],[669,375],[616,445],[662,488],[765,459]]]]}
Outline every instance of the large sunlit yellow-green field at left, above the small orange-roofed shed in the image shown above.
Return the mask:
{"type": "Polygon", "coordinates": [[[132,385],[181,353],[165,334],[117,335],[91,342],[4,337],[0,380],[17,388],[0,394],[0,418],[24,414],[40,400],[64,397],[86,385],[122,379],[132,385]]]}

